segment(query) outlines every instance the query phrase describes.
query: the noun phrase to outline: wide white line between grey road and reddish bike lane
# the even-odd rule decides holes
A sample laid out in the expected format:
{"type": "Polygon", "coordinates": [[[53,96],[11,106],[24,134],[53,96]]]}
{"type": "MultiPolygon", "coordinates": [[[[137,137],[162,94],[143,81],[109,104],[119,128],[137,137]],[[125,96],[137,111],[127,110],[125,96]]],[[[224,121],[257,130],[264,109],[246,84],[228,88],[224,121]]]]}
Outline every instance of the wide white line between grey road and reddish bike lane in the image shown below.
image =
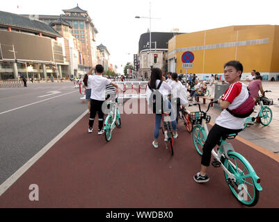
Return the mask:
{"type": "Polygon", "coordinates": [[[0,196],[11,186],[13,185],[30,167],[37,162],[42,155],[47,153],[49,149],[58,142],[74,125],[76,125],[86,114],[88,110],[83,112],[77,119],[75,119],[69,126],[67,126],[61,133],[59,133],[54,139],[51,140],[47,145],[45,145],[38,153],[36,153],[31,159],[26,162],[22,167],[20,167],[15,173],[13,173],[10,178],[8,178],[5,182],[0,185],[0,196]]]}

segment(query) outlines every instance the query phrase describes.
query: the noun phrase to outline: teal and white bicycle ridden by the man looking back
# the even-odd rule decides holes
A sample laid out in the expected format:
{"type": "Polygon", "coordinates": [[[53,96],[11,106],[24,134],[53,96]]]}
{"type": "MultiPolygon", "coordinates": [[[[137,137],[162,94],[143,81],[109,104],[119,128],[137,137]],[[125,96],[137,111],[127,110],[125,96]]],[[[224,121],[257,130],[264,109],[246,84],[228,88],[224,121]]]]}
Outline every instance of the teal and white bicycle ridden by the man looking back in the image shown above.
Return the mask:
{"type": "MultiPolygon", "coordinates": [[[[211,117],[207,115],[207,112],[212,103],[217,103],[217,101],[210,102],[207,111],[200,109],[200,103],[189,105],[189,107],[198,105],[199,108],[199,112],[190,113],[190,120],[194,126],[193,144],[200,155],[202,155],[202,147],[208,135],[207,123],[209,123],[211,117]]],[[[220,147],[216,148],[216,151],[212,150],[214,157],[212,165],[214,167],[222,167],[225,173],[225,181],[237,200],[246,206],[252,207],[257,204],[260,191],[262,191],[260,178],[248,160],[234,151],[232,144],[225,142],[225,139],[234,139],[236,136],[237,133],[221,137],[220,147]]]]}

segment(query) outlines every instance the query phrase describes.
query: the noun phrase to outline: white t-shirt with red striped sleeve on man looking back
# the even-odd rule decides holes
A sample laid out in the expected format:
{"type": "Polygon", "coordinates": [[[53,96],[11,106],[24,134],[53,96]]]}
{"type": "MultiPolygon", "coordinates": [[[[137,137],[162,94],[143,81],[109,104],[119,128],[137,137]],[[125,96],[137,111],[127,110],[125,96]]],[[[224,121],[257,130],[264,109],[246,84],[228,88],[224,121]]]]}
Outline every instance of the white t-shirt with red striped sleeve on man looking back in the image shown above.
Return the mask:
{"type": "MultiPolygon", "coordinates": [[[[229,110],[234,110],[239,107],[239,105],[244,103],[248,96],[249,93],[246,85],[244,85],[244,83],[237,82],[230,85],[230,87],[225,91],[222,99],[230,102],[230,105],[228,106],[229,110]]],[[[234,117],[227,110],[223,110],[220,116],[217,117],[215,123],[225,128],[239,130],[244,127],[245,119],[246,118],[234,117]]]]}

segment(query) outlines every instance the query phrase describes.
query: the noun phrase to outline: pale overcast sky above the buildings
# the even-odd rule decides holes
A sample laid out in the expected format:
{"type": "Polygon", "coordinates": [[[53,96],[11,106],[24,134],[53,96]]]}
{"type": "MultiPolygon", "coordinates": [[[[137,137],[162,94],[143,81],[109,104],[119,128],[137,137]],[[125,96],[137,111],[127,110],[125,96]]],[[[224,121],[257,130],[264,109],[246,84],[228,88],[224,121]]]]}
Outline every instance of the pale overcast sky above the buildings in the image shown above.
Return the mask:
{"type": "Polygon", "coordinates": [[[8,0],[0,10],[16,14],[60,15],[63,9],[79,4],[87,10],[99,31],[97,44],[104,44],[111,53],[110,61],[118,65],[118,72],[127,61],[133,61],[138,51],[138,40],[150,27],[151,31],[170,32],[179,28],[191,33],[232,25],[279,25],[278,0],[8,0]],[[17,7],[18,6],[18,7],[17,7]]]}

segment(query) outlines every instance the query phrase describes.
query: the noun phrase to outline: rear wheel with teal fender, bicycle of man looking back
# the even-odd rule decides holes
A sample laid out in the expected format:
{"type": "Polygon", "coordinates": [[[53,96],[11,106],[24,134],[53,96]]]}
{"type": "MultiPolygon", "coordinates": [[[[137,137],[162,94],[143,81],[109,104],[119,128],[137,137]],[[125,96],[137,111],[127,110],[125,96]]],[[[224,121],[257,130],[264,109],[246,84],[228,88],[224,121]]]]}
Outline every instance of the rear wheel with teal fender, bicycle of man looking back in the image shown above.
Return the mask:
{"type": "Polygon", "coordinates": [[[255,182],[252,178],[252,172],[255,171],[239,153],[230,152],[228,156],[230,160],[225,159],[224,166],[234,175],[236,181],[232,181],[225,171],[224,173],[232,194],[242,204],[248,207],[255,206],[260,196],[260,192],[255,187],[255,182]]]}

